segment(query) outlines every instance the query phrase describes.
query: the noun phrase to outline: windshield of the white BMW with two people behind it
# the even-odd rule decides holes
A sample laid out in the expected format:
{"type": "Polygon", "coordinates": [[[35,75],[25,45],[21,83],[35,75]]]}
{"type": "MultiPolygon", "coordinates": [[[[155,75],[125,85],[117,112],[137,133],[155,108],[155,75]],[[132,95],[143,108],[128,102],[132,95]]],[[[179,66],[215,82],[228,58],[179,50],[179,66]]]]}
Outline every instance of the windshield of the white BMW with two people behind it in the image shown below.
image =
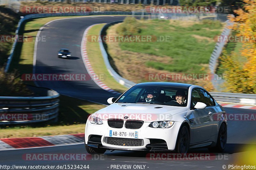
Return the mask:
{"type": "Polygon", "coordinates": [[[187,106],[188,89],[167,86],[133,86],[116,103],[187,106]],[[180,101],[179,101],[180,100],[180,101]]]}

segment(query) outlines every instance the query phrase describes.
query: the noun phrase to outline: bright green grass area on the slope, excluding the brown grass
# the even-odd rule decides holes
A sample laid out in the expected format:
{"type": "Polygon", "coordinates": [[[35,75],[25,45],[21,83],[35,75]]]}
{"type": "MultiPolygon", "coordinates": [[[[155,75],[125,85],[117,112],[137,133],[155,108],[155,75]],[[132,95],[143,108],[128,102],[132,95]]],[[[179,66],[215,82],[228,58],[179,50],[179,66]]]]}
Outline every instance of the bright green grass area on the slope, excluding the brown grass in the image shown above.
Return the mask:
{"type": "MultiPolygon", "coordinates": [[[[147,20],[140,21],[141,32],[138,35],[156,37],[170,36],[164,42],[120,42],[122,50],[148,55],[169,56],[171,63],[145,61],[146,66],[170,72],[201,73],[203,64],[208,64],[215,46],[214,36],[219,35],[223,25],[219,21],[190,23],[183,21],[147,20]]],[[[207,70],[207,69],[206,69],[207,70]]]]}

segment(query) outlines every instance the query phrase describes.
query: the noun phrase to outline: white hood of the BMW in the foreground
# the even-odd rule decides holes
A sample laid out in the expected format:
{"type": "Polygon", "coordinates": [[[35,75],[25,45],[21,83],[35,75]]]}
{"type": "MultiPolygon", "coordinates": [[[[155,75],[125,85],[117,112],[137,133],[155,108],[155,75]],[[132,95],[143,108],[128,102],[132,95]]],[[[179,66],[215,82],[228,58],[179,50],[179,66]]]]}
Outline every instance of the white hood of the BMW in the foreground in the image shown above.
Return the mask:
{"type": "Polygon", "coordinates": [[[188,107],[155,104],[113,103],[108,107],[100,109],[93,115],[103,120],[123,119],[152,122],[163,121],[175,114],[185,111],[188,111],[188,107]],[[126,116],[128,116],[128,118],[126,116]]]}

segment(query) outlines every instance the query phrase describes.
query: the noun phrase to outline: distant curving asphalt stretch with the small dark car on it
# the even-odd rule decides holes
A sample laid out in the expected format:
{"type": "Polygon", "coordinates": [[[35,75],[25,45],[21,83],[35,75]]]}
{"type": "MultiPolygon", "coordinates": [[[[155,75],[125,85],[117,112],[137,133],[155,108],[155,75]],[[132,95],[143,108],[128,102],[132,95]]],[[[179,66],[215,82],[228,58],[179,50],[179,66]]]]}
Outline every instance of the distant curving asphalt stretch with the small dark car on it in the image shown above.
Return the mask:
{"type": "MultiPolygon", "coordinates": [[[[35,73],[88,75],[80,47],[85,29],[93,24],[123,19],[122,16],[95,16],[56,20],[49,23],[39,35],[44,36],[46,41],[37,43],[35,73]],[[71,59],[58,58],[60,48],[68,48],[71,51],[71,59]]],[[[109,97],[117,97],[116,94],[101,89],[93,80],[37,81],[37,84],[51,88],[60,94],[104,104],[107,104],[109,97]]]]}

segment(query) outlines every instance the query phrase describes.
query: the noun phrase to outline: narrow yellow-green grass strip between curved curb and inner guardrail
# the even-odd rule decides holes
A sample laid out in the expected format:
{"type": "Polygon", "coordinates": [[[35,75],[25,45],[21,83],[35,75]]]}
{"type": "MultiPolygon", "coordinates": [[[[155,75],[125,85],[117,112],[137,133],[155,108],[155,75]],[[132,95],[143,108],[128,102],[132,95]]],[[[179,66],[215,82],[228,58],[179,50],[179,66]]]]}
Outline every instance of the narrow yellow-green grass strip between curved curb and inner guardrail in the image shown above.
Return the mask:
{"type": "MultiPolygon", "coordinates": [[[[99,24],[96,26],[93,26],[87,34],[87,37],[92,35],[99,35],[101,28],[105,24],[99,24]]],[[[101,51],[100,51],[100,44],[99,42],[89,42],[87,41],[87,54],[89,57],[89,61],[92,65],[92,68],[94,72],[97,75],[103,74],[104,77],[102,78],[102,82],[106,84],[108,87],[111,87],[113,90],[116,90],[117,92],[124,92],[127,90],[126,87],[116,82],[116,80],[109,74],[108,69],[104,63],[104,59],[102,57],[101,51]]]]}

